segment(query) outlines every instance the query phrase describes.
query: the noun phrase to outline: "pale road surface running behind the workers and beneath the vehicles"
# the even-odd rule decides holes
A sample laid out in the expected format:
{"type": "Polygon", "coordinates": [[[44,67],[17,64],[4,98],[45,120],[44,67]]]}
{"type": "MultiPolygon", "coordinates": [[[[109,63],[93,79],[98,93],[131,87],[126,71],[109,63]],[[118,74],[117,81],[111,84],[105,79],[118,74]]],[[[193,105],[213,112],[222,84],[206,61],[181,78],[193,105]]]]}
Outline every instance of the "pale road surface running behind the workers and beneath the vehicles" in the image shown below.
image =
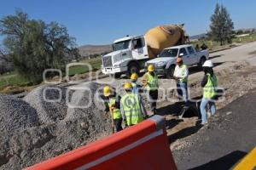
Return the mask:
{"type": "MultiPolygon", "coordinates": [[[[241,45],[236,48],[230,48],[224,51],[219,51],[216,53],[210,54],[210,58],[215,63],[214,69],[222,69],[225,67],[229,67],[234,64],[236,61],[247,60],[252,63],[252,65],[256,65],[256,42],[250,42],[244,45],[241,45]]],[[[195,77],[203,77],[203,73],[200,71],[198,67],[192,67],[189,69],[189,80],[194,79],[195,77]]],[[[140,79],[139,79],[140,80],[140,79]]],[[[160,87],[162,88],[170,88],[170,86],[175,87],[175,82],[169,79],[160,79],[160,87]]],[[[121,78],[120,80],[115,80],[110,77],[102,78],[97,80],[99,83],[107,83],[112,85],[113,87],[119,88],[127,79],[121,78]]],[[[79,85],[73,87],[83,87],[84,83],[80,83],[79,85]]]]}

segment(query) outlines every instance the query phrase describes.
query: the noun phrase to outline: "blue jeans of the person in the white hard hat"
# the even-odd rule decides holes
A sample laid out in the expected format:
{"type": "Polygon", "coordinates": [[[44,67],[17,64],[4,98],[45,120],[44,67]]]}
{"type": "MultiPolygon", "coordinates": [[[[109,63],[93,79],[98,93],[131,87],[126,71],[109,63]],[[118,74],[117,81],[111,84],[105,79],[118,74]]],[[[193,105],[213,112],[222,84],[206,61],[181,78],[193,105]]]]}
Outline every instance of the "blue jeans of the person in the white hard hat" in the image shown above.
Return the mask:
{"type": "Polygon", "coordinates": [[[216,112],[216,105],[212,99],[201,99],[200,111],[201,111],[201,123],[207,123],[207,104],[210,105],[211,114],[216,112]]]}

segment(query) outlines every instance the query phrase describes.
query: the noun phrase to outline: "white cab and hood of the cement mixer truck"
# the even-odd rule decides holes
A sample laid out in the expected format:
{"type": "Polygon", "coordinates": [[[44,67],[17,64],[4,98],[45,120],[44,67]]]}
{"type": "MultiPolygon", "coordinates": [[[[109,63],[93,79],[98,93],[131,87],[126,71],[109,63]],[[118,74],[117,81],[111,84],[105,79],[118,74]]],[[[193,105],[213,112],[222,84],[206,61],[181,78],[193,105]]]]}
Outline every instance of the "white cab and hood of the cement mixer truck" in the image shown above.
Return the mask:
{"type": "Polygon", "coordinates": [[[130,76],[133,72],[139,73],[145,59],[148,59],[145,37],[123,37],[113,42],[113,52],[102,56],[102,73],[115,77],[122,73],[130,76]]]}

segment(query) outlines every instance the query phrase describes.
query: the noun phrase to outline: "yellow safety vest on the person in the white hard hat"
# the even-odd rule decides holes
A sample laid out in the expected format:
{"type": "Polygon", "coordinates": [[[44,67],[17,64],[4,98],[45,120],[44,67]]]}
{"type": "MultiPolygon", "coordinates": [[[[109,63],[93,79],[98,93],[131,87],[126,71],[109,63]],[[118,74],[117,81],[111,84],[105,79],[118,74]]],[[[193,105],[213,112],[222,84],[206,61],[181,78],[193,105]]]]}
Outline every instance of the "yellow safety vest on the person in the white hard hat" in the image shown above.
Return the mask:
{"type": "Polygon", "coordinates": [[[207,84],[203,88],[204,90],[204,98],[206,99],[212,99],[217,94],[217,86],[218,86],[218,80],[215,75],[211,76],[211,74],[207,73],[207,84]]]}

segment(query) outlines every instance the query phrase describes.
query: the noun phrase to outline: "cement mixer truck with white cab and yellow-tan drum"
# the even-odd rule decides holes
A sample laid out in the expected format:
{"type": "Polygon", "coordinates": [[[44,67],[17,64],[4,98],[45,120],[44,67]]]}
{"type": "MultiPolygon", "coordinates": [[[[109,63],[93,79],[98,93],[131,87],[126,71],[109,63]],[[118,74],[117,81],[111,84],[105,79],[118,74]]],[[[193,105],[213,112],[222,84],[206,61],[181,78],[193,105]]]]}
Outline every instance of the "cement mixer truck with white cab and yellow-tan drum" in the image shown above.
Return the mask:
{"type": "Polygon", "coordinates": [[[113,52],[102,56],[102,73],[120,77],[139,74],[146,61],[154,59],[168,47],[185,43],[183,26],[157,26],[144,36],[127,36],[113,42],[113,52]]]}

